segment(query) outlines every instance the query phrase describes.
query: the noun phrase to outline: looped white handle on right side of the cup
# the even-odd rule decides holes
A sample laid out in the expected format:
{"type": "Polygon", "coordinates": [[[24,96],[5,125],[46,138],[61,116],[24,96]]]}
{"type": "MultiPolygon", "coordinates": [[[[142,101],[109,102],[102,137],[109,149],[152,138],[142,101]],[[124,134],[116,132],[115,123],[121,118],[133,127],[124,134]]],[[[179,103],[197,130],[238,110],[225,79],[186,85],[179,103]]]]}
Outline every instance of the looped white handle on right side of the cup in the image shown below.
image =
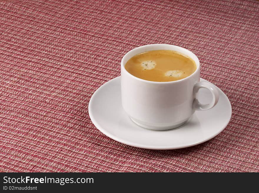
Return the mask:
{"type": "Polygon", "coordinates": [[[212,101],[210,102],[210,104],[201,104],[199,100],[195,98],[193,101],[193,108],[198,111],[205,111],[211,109],[218,103],[218,89],[213,84],[210,84],[208,82],[197,82],[193,87],[193,92],[195,96],[200,88],[208,89],[210,91],[210,93],[212,94],[212,101]]]}

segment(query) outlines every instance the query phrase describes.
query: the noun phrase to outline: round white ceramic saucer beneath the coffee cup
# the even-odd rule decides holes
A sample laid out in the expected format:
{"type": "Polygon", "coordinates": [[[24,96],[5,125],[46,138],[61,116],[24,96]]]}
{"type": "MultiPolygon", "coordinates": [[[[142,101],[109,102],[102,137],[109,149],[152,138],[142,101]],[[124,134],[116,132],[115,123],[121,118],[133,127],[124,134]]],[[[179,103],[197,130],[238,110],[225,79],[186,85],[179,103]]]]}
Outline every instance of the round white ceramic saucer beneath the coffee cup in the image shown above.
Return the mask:
{"type": "MultiPolygon", "coordinates": [[[[206,81],[200,79],[200,81],[206,81]]],[[[154,131],[136,125],[122,109],[120,77],[102,85],[89,102],[94,125],[109,138],[146,149],[178,149],[203,143],[225,129],[231,118],[231,104],[219,89],[218,104],[207,111],[196,111],[185,125],[172,130],[154,131]]],[[[200,102],[209,103],[210,93],[200,89],[200,102]]]]}

